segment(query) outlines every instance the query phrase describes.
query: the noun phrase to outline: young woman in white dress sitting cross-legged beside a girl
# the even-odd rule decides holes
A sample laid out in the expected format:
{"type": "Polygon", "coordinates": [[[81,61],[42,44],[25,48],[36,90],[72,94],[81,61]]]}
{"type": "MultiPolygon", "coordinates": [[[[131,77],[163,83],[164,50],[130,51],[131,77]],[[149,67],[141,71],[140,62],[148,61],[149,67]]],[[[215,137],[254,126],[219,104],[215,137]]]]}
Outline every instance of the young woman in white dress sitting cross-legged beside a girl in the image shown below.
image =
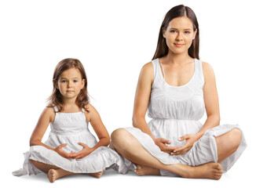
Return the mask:
{"type": "Polygon", "coordinates": [[[214,71],[199,60],[196,15],[177,5],[166,13],[152,62],[141,69],[133,128],[115,130],[112,145],[137,175],[220,179],[247,145],[238,125],[219,123],[214,71]]]}

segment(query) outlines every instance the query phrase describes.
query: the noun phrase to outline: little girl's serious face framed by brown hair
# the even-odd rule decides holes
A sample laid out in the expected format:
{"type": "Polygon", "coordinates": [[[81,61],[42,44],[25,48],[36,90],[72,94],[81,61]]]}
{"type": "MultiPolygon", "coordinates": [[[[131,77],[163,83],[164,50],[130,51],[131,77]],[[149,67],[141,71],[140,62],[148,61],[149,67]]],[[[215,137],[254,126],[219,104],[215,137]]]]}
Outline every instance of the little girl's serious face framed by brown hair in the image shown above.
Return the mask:
{"type": "Polygon", "coordinates": [[[60,90],[63,99],[76,99],[85,85],[85,80],[79,69],[73,67],[60,74],[57,89],[60,90]]]}

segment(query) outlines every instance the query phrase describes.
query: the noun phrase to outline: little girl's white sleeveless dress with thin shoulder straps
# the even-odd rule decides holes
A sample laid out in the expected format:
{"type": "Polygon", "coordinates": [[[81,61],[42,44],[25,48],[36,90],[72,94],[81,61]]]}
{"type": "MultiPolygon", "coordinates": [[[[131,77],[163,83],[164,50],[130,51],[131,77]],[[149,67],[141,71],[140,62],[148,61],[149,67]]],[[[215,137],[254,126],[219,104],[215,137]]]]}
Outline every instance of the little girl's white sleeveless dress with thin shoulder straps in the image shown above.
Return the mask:
{"type": "MultiPolygon", "coordinates": [[[[70,153],[71,151],[79,152],[82,150],[82,146],[78,143],[85,143],[90,147],[97,144],[97,139],[88,129],[84,109],[76,113],[59,113],[57,107],[54,107],[54,110],[56,116],[54,122],[50,123],[51,132],[45,143],[47,146],[56,148],[60,144],[68,143],[68,146],[64,146],[63,150],[70,153]]],[[[31,164],[30,159],[52,164],[74,173],[101,172],[105,168],[114,168],[122,174],[127,172],[123,157],[107,146],[98,147],[88,156],[76,160],[61,157],[57,152],[49,150],[45,146],[31,146],[24,157],[23,168],[13,172],[13,175],[31,175],[41,172],[31,164]]]]}

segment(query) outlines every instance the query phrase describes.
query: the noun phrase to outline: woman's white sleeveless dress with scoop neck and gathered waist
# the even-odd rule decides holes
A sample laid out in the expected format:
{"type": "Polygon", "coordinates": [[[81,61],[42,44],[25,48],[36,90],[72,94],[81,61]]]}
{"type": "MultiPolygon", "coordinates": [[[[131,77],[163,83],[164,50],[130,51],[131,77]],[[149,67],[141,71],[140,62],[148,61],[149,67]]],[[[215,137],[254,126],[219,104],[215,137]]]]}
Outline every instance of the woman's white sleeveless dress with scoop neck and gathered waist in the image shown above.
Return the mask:
{"type": "MultiPolygon", "coordinates": [[[[162,64],[159,59],[152,60],[154,67],[154,81],[152,92],[148,104],[148,117],[152,120],[148,122],[155,138],[169,139],[169,146],[183,146],[185,141],[177,139],[186,134],[196,134],[202,128],[199,119],[203,117],[205,105],[203,100],[203,69],[202,62],[195,59],[195,71],[190,81],[181,86],[168,85],[161,72],[162,64]]],[[[229,132],[232,128],[239,128],[239,125],[218,125],[204,133],[204,135],[192,146],[184,155],[166,154],[156,146],[148,134],[141,132],[139,128],[126,128],[138,141],[163,164],[187,164],[197,166],[208,162],[218,162],[217,145],[214,136],[220,136],[229,132]]],[[[240,129],[241,131],[241,129],[240,129]]],[[[243,134],[243,132],[242,132],[243,134]]],[[[242,136],[238,150],[225,161],[221,162],[224,172],[240,157],[247,143],[242,136]]],[[[127,160],[126,160],[126,164],[127,160]]],[[[177,176],[173,173],[161,170],[161,175],[177,176]]]]}

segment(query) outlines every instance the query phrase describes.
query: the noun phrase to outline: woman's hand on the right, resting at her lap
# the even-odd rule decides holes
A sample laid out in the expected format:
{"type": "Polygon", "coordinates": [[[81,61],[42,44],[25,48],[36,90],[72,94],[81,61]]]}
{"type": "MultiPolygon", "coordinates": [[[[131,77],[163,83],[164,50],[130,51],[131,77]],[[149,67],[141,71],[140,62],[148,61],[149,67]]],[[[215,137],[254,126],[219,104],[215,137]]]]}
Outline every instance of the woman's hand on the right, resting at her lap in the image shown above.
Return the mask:
{"type": "Polygon", "coordinates": [[[181,146],[178,149],[174,150],[174,153],[173,153],[174,155],[186,154],[188,152],[188,150],[190,150],[192,148],[194,143],[196,143],[196,141],[198,140],[198,136],[185,135],[185,136],[181,136],[181,138],[179,138],[178,140],[179,141],[186,140],[186,143],[184,144],[184,146],[181,146]]]}

